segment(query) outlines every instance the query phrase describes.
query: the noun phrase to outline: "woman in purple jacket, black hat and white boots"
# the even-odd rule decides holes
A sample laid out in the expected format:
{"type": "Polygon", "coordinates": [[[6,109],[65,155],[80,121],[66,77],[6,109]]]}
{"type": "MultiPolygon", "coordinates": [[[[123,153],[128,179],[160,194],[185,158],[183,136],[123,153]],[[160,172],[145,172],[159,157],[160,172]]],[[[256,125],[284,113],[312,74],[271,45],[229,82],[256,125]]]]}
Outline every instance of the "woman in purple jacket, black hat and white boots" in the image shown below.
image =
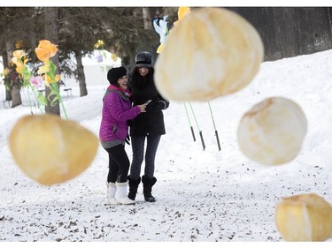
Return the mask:
{"type": "Polygon", "coordinates": [[[127,173],[130,166],[125,150],[127,121],[145,112],[146,104],[132,108],[125,67],[112,68],[107,72],[107,79],[111,85],[104,94],[99,129],[100,143],[109,155],[107,199],[109,204],[135,204],[135,200],[127,198],[127,173]]]}

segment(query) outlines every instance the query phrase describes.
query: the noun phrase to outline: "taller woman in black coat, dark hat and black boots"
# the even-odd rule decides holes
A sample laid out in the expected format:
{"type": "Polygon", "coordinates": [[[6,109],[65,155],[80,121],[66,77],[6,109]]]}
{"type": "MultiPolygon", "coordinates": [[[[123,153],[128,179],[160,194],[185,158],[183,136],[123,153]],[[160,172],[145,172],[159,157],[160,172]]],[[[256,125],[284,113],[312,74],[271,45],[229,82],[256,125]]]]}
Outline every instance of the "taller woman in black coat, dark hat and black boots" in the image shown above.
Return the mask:
{"type": "Polygon", "coordinates": [[[141,166],[143,160],[145,160],[144,175],[142,177],[143,194],[146,201],[153,202],[156,199],[152,196],[151,191],[152,186],[157,182],[157,178],[154,177],[155,157],[161,135],[166,133],[162,110],[168,108],[169,101],[158,93],[153,79],[154,69],[151,64],[151,53],[139,52],[135,56],[135,68],[128,82],[134,106],[150,101],[146,107],[146,112],[135,117],[130,124],[133,161],[128,176],[128,198],[135,199],[138,185],[141,182],[141,166]],[[144,156],[145,140],[147,142],[144,156]]]}

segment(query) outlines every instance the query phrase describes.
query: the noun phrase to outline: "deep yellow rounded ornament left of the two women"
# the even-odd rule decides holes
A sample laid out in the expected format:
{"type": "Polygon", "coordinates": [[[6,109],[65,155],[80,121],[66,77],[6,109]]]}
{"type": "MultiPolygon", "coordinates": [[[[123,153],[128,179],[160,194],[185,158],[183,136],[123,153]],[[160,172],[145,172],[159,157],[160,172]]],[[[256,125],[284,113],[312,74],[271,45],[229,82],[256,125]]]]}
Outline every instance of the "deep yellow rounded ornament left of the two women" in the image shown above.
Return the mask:
{"type": "Polygon", "coordinates": [[[63,183],[87,169],[97,154],[97,136],[55,115],[23,116],[9,137],[14,161],[40,184],[63,183]]]}

